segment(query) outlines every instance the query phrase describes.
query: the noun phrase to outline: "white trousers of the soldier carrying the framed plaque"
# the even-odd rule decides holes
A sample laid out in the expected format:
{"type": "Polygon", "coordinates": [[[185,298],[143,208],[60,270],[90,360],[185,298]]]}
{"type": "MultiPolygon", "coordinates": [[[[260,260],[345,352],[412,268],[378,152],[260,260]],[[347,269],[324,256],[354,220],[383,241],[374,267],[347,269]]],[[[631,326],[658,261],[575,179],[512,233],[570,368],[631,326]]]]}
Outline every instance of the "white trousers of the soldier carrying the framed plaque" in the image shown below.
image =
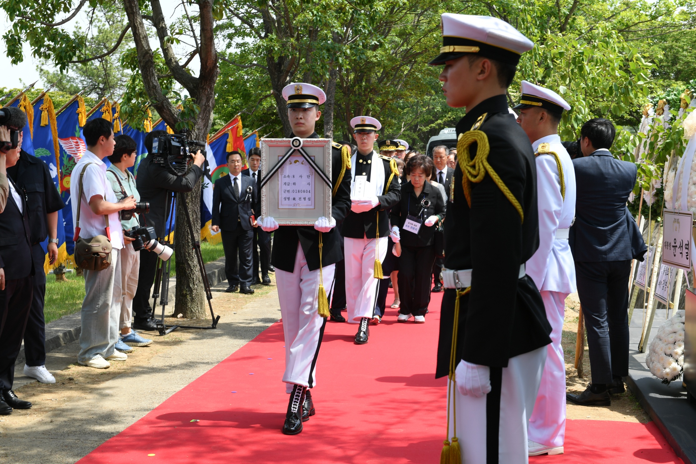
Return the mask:
{"type": "MultiPolygon", "coordinates": [[[[324,289],[331,293],[335,264],[322,269],[324,289]]],[[[314,387],[319,346],[326,319],[319,316],[319,269],[310,271],[300,244],[297,244],[292,272],[276,269],[276,285],[285,334],[285,391],[293,384],[314,387]]]]}

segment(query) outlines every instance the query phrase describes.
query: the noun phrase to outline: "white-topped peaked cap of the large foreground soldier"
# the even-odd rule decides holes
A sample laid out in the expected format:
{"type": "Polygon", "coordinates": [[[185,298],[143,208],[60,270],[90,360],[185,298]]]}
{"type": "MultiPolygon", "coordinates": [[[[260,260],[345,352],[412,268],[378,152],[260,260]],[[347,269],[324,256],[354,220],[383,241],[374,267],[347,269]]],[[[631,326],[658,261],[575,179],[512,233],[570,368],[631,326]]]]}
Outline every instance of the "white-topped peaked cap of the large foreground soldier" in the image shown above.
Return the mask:
{"type": "Polygon", "coordinates": [[[441,18],[443,46],[429,65],[442,65],[466,54],[517,65],[521,54],[534,47],[523,33],[497,17],[444,13],[441,18]]]}

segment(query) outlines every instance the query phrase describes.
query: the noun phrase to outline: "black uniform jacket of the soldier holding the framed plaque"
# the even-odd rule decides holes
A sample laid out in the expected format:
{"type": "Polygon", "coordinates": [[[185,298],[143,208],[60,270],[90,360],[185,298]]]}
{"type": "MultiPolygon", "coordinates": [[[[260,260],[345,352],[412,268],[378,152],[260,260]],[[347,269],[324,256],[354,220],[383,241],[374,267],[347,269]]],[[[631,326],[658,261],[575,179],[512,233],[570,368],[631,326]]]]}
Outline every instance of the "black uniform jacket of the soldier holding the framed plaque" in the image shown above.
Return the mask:
{"type": "MultiPolygon", "coordinates": [[[[290,134],[290,138],[294,136],[290,134]]],[[[319,135],[315,132],[309,138],[319,138],[319,135]]],[[[338,191],[331,200],[331,217],[335,219],[336,224],[340,224],[350,210],[350,170],[346,168],[343,178],[339,179],[342,166],[341,149],[342,145],[331,143],[331,183],[334,188],[340,183],[338,191]]],[[[319,269],[319,231],[313,226],[306,225],[278,227],[273,235],[271,264],[281,271],[292,272],[295,267],[298,241],[302,246],[309,270],[319,269]]],[[[336,227],[322,234],[322,244],[322,266],[329,266],[343,259],[341,237],[336,227]]]]}

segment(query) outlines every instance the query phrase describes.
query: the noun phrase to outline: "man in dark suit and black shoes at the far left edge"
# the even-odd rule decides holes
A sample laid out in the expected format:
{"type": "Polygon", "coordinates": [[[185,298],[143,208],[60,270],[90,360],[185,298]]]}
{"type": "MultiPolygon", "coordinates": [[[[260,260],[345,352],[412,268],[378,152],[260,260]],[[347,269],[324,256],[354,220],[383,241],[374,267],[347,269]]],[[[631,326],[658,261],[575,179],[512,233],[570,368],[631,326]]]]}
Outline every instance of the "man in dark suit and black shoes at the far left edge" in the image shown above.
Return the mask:
{"type": "MultiPolygon", "coordinates": [[[[0,143],[0,157],[6,158],[8,168],[15,166],[19,147],[3,147],[0,143]]],[[[31,408],[29,401],[17,398],[12,390],[15,361],[33,298],[35,266],[31,259],[29,207],[26,193],[11,177],[8,186],[7,204],[0,213],[0,415],[12,414],[13,409],[31,408]]]]}

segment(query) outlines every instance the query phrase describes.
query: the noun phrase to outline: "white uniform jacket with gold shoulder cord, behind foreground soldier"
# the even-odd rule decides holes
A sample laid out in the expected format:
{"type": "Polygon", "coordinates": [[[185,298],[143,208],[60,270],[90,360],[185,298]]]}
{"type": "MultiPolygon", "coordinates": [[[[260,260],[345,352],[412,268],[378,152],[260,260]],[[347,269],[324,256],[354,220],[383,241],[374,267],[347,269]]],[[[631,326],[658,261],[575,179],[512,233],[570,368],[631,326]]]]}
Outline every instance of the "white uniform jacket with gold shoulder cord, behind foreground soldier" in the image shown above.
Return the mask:
{"type": "Polygon", "coordinates": [[[540,291],[573,293],[576,291],[575,262],[568,239],[556,239],[556,230],[570,227],[575,217],[575,170],[573,161],[553,134],[532,143],[537,152],[541,143],[549,143],[561,160],[565,198],[561,196],[558,164],[551,154],[536,157],[537,204],[539,206],[539,248],[527,261],[526,269],[540,291]]]}

